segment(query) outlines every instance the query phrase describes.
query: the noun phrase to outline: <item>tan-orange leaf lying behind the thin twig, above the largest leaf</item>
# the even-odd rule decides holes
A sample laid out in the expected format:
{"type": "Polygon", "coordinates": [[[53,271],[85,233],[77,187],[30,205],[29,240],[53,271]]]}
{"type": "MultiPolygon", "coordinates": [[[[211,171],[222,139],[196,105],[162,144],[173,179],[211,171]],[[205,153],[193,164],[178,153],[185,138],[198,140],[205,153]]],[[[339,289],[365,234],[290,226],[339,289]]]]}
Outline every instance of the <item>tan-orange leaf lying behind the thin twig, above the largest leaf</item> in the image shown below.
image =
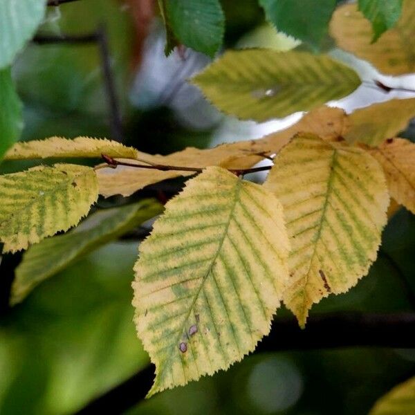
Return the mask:
{"type": "MultiPolygon", "coordinates": [[[[258,163],[262,157],[256,156],[257,152],[264,151],[255,140],[234,142],[221,145],[213,149],[196,149],[187,147],[183,151],[169,154],[168,156],[140,156],[140,159],[149,163],[172,165],[180,167],[208,167],[219,165],[226,168],[243,169],[258,163]]],[[[131,160],[126,160],[131,163],[131,160]]],[[[137,162],[137,164],[142,164],[137,162]]],[[[190,176],[192,172],[168,171],[162,172],[155,169],[138,169],[136,167],[118,166],[116,169],[107,167],[97,170],[100,183],[100,194],[105,197],[114,194],[129,196],[142,187],[174,178],[178,176],[190,176]]]]}

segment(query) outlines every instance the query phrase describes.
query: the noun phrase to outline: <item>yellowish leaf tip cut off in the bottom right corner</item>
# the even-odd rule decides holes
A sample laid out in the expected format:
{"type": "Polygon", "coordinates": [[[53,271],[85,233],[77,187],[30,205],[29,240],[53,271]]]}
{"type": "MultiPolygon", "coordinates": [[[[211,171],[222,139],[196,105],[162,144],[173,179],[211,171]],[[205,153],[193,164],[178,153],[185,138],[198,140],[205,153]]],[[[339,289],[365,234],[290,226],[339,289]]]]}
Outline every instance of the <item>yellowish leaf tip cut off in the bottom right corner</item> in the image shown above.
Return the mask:
{"type": "Polygon", "coordinates": [[[394,387],[382,396],[369,415],[409,415],[415,409],[415,377],[394,387]]]}

